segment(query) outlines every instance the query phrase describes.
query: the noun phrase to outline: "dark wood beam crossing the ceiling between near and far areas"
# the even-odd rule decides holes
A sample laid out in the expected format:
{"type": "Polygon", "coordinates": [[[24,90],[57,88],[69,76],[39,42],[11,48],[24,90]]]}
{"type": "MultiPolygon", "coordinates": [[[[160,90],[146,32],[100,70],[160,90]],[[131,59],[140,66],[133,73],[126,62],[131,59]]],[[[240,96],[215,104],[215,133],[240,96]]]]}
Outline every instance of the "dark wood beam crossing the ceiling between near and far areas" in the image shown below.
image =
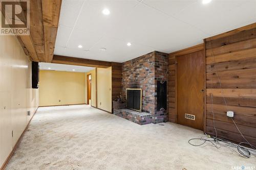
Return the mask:
{"type": "Polygon", "coordinates": [[[111,62],[108,62],[108,61],[99,61],[99,60],[91,60],[91,59],[83,59],[83,58],[75,58],[75,57],[58,56],[58,55],[53,55],[52,63],[80,65],[80,66],[98,67],[98,68],[108,68],[112,66],[111,62]]]}

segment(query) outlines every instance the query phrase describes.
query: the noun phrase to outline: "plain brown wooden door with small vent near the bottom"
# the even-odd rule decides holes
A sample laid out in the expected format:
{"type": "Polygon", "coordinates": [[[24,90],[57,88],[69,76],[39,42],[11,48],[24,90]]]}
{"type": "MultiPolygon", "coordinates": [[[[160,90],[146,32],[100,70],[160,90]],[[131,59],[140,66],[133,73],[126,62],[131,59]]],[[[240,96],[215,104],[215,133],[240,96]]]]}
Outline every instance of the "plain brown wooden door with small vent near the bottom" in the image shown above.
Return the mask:
{"type": "Polygon", "coordinates": [[[198,51],[177,57],[177,123],[203,130],[204,53],[198,51]],[[185,115],[189,118],[185,118],[185,115]]]}

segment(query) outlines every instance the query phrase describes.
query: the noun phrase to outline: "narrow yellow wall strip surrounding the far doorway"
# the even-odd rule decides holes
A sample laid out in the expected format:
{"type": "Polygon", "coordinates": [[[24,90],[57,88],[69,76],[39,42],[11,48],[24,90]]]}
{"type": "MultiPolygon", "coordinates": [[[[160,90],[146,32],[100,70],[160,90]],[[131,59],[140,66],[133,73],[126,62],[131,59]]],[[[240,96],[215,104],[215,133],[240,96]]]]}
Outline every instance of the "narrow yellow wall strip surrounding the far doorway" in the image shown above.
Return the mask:
{"type": "Polygon", "coordinates": [[[96,107],[96,69],[86,72],[86,103],[87,103],[87,75],[92,74],[92,99],[91,106],[96,107]]]}

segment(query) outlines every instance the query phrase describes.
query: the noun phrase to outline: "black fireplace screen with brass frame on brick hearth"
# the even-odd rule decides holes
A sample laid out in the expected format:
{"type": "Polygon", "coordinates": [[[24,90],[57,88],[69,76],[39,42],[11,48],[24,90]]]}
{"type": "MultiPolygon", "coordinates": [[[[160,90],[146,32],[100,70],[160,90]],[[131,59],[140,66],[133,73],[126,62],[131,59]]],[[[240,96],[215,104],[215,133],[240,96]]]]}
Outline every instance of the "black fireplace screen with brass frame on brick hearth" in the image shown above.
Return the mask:
{"type": "Polygon", "coordinates": [[[126,89],[126,106],[141,112],[141,89],[126,89]]]}

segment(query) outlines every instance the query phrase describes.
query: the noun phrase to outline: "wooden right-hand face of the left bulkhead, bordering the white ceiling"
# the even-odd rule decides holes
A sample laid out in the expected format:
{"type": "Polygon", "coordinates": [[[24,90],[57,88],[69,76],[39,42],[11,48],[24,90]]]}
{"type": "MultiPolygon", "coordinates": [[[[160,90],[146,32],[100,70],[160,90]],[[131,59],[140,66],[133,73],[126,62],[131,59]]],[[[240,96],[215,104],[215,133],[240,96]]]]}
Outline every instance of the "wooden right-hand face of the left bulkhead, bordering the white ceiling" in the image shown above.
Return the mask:
{"type": "Polygon", "coordinates": [[[41,0],[44,20],[45,62],[52,62],[58,30],[61,0],[41,0]]]}

